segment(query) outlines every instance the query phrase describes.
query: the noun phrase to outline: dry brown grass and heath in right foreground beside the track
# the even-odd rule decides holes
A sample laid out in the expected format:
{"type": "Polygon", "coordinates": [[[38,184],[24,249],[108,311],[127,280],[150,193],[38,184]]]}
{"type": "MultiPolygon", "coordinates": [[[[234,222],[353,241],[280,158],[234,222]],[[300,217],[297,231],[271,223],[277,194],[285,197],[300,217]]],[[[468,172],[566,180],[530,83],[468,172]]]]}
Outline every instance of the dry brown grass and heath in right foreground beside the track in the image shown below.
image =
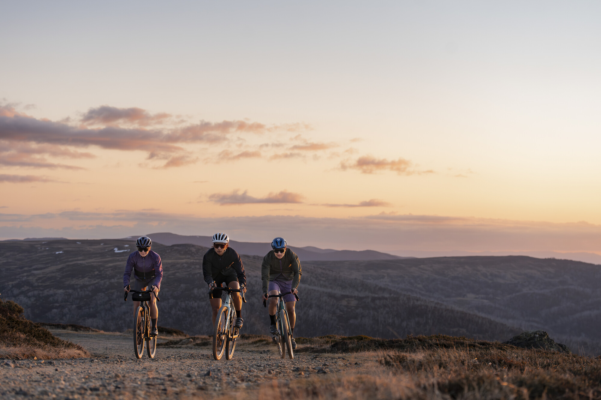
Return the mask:
{"type": "Polygon", "coordinates": [[[449,336],[403,340],[404,350],[356,353],[377,360],[360,372],[273,381],[228,398],[601,399],[600,359],[449,336]]]}

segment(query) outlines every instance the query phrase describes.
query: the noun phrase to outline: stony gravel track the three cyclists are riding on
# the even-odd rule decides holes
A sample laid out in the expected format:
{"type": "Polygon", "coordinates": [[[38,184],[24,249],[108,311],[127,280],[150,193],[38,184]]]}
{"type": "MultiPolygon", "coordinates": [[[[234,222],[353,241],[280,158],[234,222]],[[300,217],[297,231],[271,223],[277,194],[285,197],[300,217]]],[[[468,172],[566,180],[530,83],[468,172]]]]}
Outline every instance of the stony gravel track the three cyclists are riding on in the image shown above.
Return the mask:
{"type": "MultiPolygon", "coordinates": [[[[0,396],[6,399],[192,398],[254,390],[279,380],[288,383],[328,374],[367,372],[373,353],[297,353],[281,359],[272,344],[239,341],[234,359],[213,360],[210,346],[157,347],[154,359],[133,356],[130,335],[53,330],[93,357],[73,360],[0,360],[0,396]]],[[[172,339],[172,338],[169,338],[172,339]]],[[[162,339],[161,341],[165,341],[162,339]]],[[[299,345],[299,348],[302,346],[299,345]]]]}

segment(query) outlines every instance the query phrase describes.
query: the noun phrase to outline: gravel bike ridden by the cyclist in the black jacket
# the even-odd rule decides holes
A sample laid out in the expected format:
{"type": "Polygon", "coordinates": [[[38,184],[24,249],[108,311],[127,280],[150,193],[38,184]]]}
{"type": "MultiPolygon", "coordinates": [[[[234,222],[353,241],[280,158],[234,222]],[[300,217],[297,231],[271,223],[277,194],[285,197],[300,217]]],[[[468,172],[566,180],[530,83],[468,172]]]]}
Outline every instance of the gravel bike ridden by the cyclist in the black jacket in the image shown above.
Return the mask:
{"type": "Polygon", "coordinates": [[[236,309],[234,308],[234,299],[231,296],[232,292],[239,292],[242,295],[242,301],[246,303],[244,292],[242,289],[230,288],[210,288],[209,293],[213,289],[219,289],[227,292],[225,295],[224,305],[219,308],[217,318],[215,318],[215,332],[213,332],[213,358],[221,360],[224,355],[225,359],[231,360],[234,356],[234,348],[236,348],[236,339],[240,336],[240,328],[236,328],[236,309]]]}

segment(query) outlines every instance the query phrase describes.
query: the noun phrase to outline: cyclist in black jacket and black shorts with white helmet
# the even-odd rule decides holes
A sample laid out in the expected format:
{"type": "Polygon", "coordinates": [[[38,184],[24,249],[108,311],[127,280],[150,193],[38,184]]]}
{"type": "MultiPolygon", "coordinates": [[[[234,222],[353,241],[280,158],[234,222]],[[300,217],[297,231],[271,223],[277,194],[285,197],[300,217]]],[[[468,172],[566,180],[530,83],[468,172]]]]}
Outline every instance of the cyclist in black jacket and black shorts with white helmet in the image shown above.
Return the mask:
{"type": "MultiPolygon", "coordinates": [[[[219,289],[222,283],[228,285],[230,289],[242,289],[246,292],[246,273],[240,255],[236,250],[228,246],[230,238],[224,233],[213,235],[213,248],[209,249],[203,257],[203,275],[204,281],[213,291],[209,294],[209,302],[213,309],[213,325],[217,318],[217,312],[221,307],[222,290],[219,289]]],[[[239,292],[231,293],[236,309],[236,327],[242,328],[242,297],[239,292]]]]}

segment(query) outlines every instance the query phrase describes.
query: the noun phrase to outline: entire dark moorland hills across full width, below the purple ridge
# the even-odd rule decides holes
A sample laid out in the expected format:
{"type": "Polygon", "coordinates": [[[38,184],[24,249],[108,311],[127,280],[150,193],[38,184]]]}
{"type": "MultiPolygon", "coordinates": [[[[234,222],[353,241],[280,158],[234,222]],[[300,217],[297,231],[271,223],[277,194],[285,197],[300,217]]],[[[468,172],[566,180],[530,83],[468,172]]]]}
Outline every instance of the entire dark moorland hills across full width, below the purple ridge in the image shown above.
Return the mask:
{"type": "MultiPolygon", "coordinates": [[[[132,247],[131,240],[0,242],[0,292],[34,321],[125,330],[132,303],[123,302],[121,282],[132,247]]],[[[153,249],[165,270],[159,324],[211,333],[201,273],[207,248],[153,249]]],[[[261,257],[243,255],[243,262],[249,282],[244,330],[265,334],[261,257]]],[[[302,267],[295,336],[446,333],[505,341],[523,329],[545,329],[573,351],[600,348],[598,265],[507,256],[305,261],[302,267]]]]}

